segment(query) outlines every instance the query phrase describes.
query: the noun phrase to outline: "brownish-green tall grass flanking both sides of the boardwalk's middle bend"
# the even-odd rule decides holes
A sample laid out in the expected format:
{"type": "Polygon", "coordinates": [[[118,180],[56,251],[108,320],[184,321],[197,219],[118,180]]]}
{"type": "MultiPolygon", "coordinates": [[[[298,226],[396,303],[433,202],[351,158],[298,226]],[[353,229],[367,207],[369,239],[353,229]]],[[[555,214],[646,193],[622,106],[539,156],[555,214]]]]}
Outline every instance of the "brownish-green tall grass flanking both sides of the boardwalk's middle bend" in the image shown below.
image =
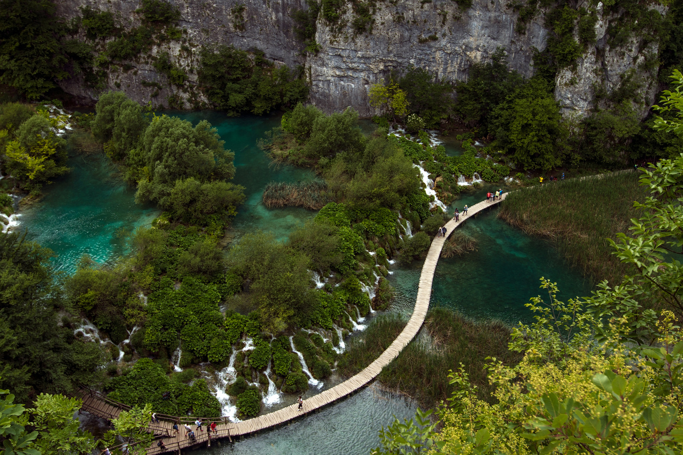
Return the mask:
{"type": "MultiPolygon", "coordinates": [[[[398,335],[398,327],[400,324],[395,320],[378,318],[365,329],[363,337],[350,343],[345,359],[348,363],[340,368],[342,374],[355,374],[376,359],[398,335]]],[[[385,387],[398,389],[425,407],[434,407],[450,398],[454,389],[449,385],[448,370],[457,370],[461,362],[477,386],[479,398],[492,401],[494,387],[484,371],[486,357],[496,357],[506,365],[514,365],[522,358],[507,350],[510,329],[499,321],[474,322],[436,307],[428,312],[424,329],[429,336],[418,335],[378,378],[385,387]]]]}

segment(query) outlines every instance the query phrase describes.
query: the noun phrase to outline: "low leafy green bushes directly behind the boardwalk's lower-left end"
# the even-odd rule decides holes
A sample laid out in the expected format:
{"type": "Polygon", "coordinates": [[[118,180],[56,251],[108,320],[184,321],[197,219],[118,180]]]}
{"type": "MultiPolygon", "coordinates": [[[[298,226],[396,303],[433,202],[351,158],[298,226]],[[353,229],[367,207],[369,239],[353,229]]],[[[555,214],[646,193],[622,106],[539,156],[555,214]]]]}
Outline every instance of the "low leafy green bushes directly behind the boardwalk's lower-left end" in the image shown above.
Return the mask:
{"type": "Polygon", "coordinates": [[[156,413],[169,415],[196,415],[219,417],[221,404],[214,397],[204,379],[186,385],[173,381],[165,370],[152,359],[140,359],[122,376],[112,378],[107,386],[112,391],[109,398],[130,406],[144,406],[149,403],[156,413]],[[171,397],[164,400],[162,394],[170,391],[171,397]]]}

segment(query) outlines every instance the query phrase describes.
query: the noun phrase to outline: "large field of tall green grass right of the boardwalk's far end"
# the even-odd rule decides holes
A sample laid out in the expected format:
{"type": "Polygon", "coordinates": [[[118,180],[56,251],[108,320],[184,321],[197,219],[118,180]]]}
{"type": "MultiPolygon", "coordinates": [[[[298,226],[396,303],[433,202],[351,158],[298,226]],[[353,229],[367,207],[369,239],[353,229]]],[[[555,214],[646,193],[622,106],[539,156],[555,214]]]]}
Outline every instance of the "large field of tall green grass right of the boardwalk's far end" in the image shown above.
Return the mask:
{"type": "Polygon", "coordinates": [[[639,174],[622,172],[573,178],[513,191],[503,201],[499,217],[535,236],[550,238],[559,251],[594,281],[616,284],[629,272],[612,254],[608,238],[628,234],[637,217],[633,202],[643,202],[647,190],[639,174]]]}

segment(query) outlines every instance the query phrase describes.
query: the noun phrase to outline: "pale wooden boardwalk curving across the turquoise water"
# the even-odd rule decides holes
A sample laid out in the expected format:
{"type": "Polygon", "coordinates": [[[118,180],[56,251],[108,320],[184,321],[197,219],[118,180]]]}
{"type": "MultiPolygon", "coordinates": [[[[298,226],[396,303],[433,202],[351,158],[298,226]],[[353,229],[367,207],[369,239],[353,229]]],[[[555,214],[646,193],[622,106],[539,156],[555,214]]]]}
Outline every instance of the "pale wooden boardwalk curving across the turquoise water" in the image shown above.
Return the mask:
{"type": "MultiPolygon", "coordinates": [[[[427,316],[427,310],[429,309],[430,297],[432,297],[432,279],[434,279],[436,262],[438,262],[438,258],[441,256],[441,248],[443,247],[447,236],[466,219],[471,218],[481,210],[498,204],[502,199],[505,199],[506,195],[507,193],[504,193],[502,198],[495,202],[482,201],[471,206],[467,216],[463,217],[460,215],[460,221],[456,222],[454,219],[451,219],[446,223],[447,234],[445,237],[435,237],[434,240],[432,240],[432,245],[430,246],[427,258],[422,266],[413,315],[410,316],[408,324],[406,324],[406,327],[400,335],[398,335],[391,345],[389,345],[389,348],[387,348],[387,350],[385,350],[374,362],[370,363],[367,368],[343,383],[335,385],[335,387],[332,387],[331,389],[322,391],[320,394],[304,400],[303,411],[298,411],[297,405],[292,404],[272,413],[260,415],[259,417],[237,423],[229,422],[227,418],[203,419],[204,424],[212,421],[217,424],[217,432],[212,433],[211,437],[208,437],[206,431],[199,431],[195,427],[193,419],[174,417],[171,415],[158,415],[160,422],[158,422],[158,424],[150,424],[149,428],[150,432],[154,432],[157,439],[163,440],[165,450],[154,443],[152,447],[148,448],[147,453],[154,455],[161,452],[180,452],[180,450],[185,447],[191,447],[201,443],[210,445],[211,439],[229,437],[232,440],[232,437],[235,436],[249,435],[253,432],[278,426],[279,424],[296,419],[296,417],[300,417],[305,413],[320,409],[340,398],[344,398],[372,381],[382,371],[382,368],[395,359],[410,340],[413,340],[413,337],[417,335],[417,332],[419,332],[422,327],[422,323],[427,316]],[[173,423],[178,423],[180,426],[180,435],[178,436],[174,436],[174,432],[171,429],[173,423]],[[183,424],[189,424],[193,430],[195,430],[195,440],[191,440],[189,437],[185,436],[183,424]]],[[[128,409],[128,406],[112,402],[100,394],[91,392],[83,397],[83,411],[94,413],[104,419],[115,418],[118,413],[124,409],[128,409]]]]}

